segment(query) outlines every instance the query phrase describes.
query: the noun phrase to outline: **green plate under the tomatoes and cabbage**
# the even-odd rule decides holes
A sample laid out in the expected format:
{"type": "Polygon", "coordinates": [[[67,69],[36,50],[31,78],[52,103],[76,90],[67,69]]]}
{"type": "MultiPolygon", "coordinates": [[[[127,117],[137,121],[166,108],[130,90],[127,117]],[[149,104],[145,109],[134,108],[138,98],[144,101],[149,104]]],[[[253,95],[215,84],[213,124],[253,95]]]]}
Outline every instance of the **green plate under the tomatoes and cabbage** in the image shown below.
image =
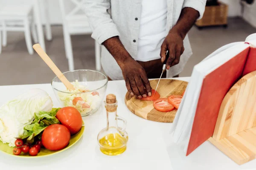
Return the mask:
{"type": "MultiPolygon", "coordinates": [[[[62,150],[56,150],[56,151],[52,151],[52,150],[48,150],[46,148],[41,148],[41,151],[38,153],[37,156],[30,156],[29,153],[21,153],[19,156],[20,157],[24,157],[24,158],[38,158],[38,157],[43,157],[43,156],[50,156],[50,155],[53,155],[55,153],[60,153],[64,150],[67,150],[69,149],[71,146],[73,146],[76,142],[79,141],[79,139],[81,138],[81,136],[83,135],[84,133],[84,125],[82,126],[81,130],[76,133],[75,135],[72,135],[70,137],[70,142],[69,144],[67,145],[67,147],[65,147],[64,149],[62,150]]],[[[2,151],[3,153],[7,153],[7,154],[10,154],[12,156],[16,156],[12,153],[12,150],[13,150],[14,147],[9,147],[8,144],[3,144],[2,141],[0,141],[0,151],[2,151]]]]}

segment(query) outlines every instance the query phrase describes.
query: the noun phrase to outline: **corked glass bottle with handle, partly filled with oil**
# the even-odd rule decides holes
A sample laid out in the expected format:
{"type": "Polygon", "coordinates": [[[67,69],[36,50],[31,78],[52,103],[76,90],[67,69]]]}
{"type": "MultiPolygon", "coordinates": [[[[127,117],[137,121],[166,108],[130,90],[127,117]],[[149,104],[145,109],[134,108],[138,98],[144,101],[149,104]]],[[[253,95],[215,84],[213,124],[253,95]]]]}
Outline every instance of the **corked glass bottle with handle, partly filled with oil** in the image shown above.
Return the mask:
{"type": "Polygon", "coordinates": [[[128,134],[125,131],[126,120],[117,116],[116,96],[109,94],[105,101],[107,112],[107,127],[98,134],[98,143],[102,153],[110,156],[119,155],[126,150],[128,134]],[[122,127],[118,127],[117,121],[122,121],[122,127]]]}

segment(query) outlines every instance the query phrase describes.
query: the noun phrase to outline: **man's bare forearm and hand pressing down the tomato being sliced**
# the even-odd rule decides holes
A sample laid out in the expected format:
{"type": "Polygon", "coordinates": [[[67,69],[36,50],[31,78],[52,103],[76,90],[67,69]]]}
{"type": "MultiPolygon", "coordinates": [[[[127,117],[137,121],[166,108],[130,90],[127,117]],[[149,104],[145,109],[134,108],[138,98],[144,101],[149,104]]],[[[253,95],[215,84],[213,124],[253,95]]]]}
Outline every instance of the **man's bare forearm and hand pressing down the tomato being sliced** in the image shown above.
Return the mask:
{"type": "Polygon", "coordinates": [[[128,92],[139,99],[147,97],[147,94],[151,96],[151,86],[144,68],[131,57],[119,37],[111,37],[103,45],[121,68],[128,92]]]}

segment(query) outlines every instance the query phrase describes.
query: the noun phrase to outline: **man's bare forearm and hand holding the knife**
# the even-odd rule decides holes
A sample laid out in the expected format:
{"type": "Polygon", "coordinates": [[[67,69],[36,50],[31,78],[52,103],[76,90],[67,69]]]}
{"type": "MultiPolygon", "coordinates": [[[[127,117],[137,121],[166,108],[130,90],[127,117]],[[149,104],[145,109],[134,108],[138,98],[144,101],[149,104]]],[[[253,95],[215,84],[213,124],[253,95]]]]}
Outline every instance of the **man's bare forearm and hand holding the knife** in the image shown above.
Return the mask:
{"type": "Polygon", "coordinates": [[[184,52],[183,40],[199,17],[199,12],[194,8],[183,8],[176,25],[169,31],[163,44],[161,45],[160,57],[164,62],[166,52],[169,51],[169,58],[166,62],[166,69],[177,65],[180,62],[180,56],[184,52]]]}

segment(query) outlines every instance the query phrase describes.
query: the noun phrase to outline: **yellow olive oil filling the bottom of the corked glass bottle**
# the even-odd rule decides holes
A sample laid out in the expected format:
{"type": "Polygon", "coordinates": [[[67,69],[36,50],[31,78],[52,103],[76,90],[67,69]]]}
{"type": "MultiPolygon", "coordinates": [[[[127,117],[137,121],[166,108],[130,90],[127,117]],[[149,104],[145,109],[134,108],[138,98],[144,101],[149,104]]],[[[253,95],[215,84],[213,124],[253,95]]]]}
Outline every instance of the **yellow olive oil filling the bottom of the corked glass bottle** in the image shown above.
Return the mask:
{"type": "Polygon", "coordinates": [[[127,138],[119,133],[109,133],[99,140],[100,150],[106,155],[119,155],[126,150],[127,138]]]}

